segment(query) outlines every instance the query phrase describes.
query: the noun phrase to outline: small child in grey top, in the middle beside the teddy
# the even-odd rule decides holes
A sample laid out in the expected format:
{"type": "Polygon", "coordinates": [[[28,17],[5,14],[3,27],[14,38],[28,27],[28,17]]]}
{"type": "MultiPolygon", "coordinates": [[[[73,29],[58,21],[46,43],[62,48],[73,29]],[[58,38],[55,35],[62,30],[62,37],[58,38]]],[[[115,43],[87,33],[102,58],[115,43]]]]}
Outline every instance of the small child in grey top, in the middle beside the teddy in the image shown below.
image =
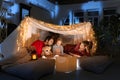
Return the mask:
{"type": "Polygon", "coordinates": [[[53,45],[53,54],[55,54],[55,55],[63,55],[64,54],[61,38],[58,38],[56,43],[53,45]]]}

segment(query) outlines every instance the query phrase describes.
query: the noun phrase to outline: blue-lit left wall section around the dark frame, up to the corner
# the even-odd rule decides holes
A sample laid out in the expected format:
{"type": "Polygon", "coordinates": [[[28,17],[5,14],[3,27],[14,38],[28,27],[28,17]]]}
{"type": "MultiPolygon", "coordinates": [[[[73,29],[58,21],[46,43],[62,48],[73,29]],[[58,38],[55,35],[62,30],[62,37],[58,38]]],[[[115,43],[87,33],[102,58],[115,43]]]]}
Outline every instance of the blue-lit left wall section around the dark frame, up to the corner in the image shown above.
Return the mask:
{"type": "Polygon", "coordinates": [[[2,7],[7,8],[8,12],[11,15],[7,15],[7,20],[10,23],[19,25],[20,24],[20,5],[19,3],[26,4],[31,7],[30,16],[39,20],[44,20],[46,22],[52,21],[52,11],[54,9],[54,5],[48,2],[47,0],[5,0],[7,1],[2,4],[2,7]],[[13,1],[13,5],[10,5],[9,2],[13,1]],[[36,3],[37,2],[37,3],[36,3]],[[34,5],[31,5],[33,3],[34,5]],[[39,3],[39,4],[38,4],[39,3]],[[37,5],[37,6],[35,6],[37,5]],[[49,7],[48,7],[49,6],[49,7]]]}

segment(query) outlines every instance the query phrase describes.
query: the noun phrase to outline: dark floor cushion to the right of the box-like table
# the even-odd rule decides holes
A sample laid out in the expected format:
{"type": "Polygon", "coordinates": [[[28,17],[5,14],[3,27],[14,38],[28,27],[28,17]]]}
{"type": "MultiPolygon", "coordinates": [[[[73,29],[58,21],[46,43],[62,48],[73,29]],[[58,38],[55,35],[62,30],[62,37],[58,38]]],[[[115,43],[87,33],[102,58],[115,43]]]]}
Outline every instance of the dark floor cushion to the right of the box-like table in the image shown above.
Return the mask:
{"type": "Polygon", "coordinates": [[[112,63],[108,56],[81,57],[80,66],[84,70],[102,73],[112,63]]]}

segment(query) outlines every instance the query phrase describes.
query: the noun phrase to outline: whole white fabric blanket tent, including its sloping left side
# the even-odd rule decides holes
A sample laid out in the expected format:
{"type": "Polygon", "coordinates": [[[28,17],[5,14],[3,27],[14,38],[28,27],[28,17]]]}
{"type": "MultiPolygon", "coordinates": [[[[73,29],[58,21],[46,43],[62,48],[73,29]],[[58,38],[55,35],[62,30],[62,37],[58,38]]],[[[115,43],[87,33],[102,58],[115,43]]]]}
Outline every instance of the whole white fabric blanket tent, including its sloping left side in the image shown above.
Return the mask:
{"type": "Polygon", "coordinates": [[[5,57],[12,56],[20,52],[34,41],[35,35],[40,32],[40,39],[47,36],[47,32],[58,33],[61,35],[65,44],[77,44],[80,41],[88,40],[93,42],[92,53],[95,53],[97,41],[90,22],[83,22],[73,25],[55,25],[46,23],[34,18],[26,17],[21,24],[8,36],[2,43],[2,53],[5,57]]]}

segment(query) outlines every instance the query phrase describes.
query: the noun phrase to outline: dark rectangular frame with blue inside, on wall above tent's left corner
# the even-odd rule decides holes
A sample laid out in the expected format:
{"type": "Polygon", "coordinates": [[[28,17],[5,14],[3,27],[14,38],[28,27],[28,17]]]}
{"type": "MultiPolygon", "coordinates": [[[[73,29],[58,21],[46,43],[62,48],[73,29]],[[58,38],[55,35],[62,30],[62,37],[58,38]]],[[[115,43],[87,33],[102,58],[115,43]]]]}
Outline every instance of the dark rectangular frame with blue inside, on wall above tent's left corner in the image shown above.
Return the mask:
{"type": "Polygon", "coordinates": [[[31,7],[29,5],[20,3],[20,21],[26,16],[30,16],[30,9],[31,7]]]}

